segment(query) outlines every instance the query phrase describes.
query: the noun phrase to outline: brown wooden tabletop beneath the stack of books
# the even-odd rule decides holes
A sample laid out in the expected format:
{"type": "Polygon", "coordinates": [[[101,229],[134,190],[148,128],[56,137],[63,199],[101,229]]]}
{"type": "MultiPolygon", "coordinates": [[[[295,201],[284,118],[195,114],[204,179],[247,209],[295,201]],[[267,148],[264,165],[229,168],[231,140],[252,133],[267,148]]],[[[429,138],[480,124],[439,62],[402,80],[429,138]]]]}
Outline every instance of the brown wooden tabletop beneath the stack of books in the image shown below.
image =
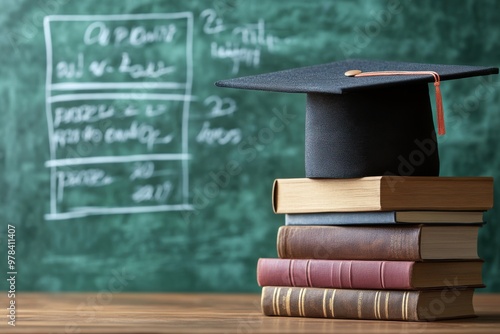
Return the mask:
{"type": "Polygon", "coordinates": [[[2,316],[1,333],[500,333],[500,294],[474,297],[478,318],[431,323],[266,317],[260,296],[244,294],[16,297],[16,327],[2,316]]]}

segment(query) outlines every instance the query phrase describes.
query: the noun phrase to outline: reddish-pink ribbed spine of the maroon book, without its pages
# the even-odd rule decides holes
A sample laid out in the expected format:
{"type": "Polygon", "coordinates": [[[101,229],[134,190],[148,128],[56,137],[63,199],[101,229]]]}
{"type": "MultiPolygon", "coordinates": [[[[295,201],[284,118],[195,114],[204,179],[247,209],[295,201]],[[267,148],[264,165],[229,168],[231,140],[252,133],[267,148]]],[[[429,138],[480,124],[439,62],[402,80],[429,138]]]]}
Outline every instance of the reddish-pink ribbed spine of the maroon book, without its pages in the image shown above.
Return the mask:
{"type": "Polygon", "coordinates": [[[412,290],[414,262],[259,259],[260,286],[412,290]]]}

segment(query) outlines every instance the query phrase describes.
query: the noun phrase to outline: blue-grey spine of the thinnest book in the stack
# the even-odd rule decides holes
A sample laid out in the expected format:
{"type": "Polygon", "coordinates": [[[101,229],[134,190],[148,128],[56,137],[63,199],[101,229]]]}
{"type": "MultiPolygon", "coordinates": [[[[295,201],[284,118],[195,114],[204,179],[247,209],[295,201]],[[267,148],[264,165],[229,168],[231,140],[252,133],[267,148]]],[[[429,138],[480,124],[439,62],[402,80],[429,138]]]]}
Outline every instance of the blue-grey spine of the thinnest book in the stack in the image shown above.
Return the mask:
{"type": "Polygon", "coordinates": [[[395,224],[394,211],[380,212],[328,212],[286,214],[286,225],[374,225],[395,224]]]}

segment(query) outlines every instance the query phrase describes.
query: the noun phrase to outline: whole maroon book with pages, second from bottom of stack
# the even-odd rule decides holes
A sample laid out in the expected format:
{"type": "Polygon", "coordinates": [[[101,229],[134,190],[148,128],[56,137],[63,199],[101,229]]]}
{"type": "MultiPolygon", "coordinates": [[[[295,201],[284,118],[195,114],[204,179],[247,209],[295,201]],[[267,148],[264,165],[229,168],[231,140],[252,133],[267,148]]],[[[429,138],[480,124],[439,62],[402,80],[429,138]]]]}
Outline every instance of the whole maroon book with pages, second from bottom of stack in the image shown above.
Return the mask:
{"type": "Polygon", "coordinates": [[[342,261],[259,259],[260,286],[415,290],[483,286],[482,261],[342,261]]]}

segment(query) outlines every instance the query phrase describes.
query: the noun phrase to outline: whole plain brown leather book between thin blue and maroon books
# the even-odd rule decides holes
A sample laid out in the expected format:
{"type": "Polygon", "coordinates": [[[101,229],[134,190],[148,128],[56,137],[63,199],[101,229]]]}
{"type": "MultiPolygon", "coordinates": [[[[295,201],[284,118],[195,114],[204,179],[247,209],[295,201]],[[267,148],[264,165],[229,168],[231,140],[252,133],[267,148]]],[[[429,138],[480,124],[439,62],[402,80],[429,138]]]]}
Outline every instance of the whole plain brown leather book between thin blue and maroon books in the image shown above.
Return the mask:
{"type": "Polygon", "coordinates": [[[479,225],[281,226],[282,259],[475,260],[479,225]]]}

